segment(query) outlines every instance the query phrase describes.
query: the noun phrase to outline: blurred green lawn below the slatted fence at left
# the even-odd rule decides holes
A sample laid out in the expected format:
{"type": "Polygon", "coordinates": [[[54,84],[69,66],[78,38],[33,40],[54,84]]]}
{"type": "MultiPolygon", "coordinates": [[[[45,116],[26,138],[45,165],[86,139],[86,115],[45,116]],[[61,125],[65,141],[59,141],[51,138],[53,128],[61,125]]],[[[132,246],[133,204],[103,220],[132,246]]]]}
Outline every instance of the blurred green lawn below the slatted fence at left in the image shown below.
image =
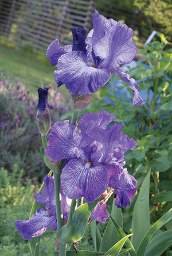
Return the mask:
{"type": "MultiPolygon", "coordinates": [[[[49,83],[57,86],[54,81],[53,71],[56,66],[49,64],[44,52],[40,55],[26,50],[17,50],[0,43],[0,72],[10,76],[15,82],[22,82],[32,94],[37,94],[37,87],[48,87],[49,83]]],[[[69,96],[65,86],[61,86],[58,91],[69,96]]]]}

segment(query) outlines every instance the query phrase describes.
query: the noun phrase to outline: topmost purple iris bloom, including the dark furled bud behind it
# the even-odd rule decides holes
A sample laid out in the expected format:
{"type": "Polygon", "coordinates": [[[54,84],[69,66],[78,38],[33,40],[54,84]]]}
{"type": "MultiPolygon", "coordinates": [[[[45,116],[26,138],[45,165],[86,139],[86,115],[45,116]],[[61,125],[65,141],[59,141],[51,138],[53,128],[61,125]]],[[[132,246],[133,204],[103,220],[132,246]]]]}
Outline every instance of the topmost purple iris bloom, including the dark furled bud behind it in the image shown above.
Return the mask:
{"type": "Polygon", "coordinates": [[[74,95],[92,94],[110,80],[111,73],[117,72],[122,81],[131,83],[133,105],[144,104],[138,84],[120,68],[135,57],[134,30],[121,21],[107,20],[97,10],[92,22],[87,39],[84,28],[73,28],[73,45],[61,47],[58,40],[49,45],[46,57],[50,64],[57,65],[54,78],[58,87],[65,84],[74,95]]]}

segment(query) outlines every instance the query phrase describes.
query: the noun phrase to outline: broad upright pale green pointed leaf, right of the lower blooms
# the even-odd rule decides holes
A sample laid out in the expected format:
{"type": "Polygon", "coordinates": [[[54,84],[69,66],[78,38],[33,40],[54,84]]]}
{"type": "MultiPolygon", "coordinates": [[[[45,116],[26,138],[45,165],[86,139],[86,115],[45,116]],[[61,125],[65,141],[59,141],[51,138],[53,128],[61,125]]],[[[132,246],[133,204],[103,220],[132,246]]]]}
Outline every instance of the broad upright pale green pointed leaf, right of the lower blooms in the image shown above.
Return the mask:
{"type": "Polygon", "coordinates": [[[134,205],[132,213],[132,233],[131,242],[138,249],[143,236],[150,228],[149,214],[149,186],[150,186],[150,171],[148,171],[141,186],[138,198],[134,205]]]}

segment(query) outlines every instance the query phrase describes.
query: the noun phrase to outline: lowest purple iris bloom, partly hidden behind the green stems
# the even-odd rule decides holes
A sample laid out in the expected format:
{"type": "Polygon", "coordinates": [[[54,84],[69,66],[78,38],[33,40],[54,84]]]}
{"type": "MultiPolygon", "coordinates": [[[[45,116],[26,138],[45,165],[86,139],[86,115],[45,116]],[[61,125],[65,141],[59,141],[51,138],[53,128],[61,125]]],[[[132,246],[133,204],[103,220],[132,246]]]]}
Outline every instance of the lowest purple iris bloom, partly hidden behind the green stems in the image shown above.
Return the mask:
{"type": "MultiPolygon", "coordinates": [[[[15,220],[15,227],[21,233],[22,238],[26,240],[42,235],[48,228],[52,228],[54,231],[57,230],[54,178],[53,176],[45,176],[43,181],[45,187],[41,194],[35,193],[34,197],[36,202],[44,205],[44,207],[37,209],[29,220],[15,220]]],[[[68,220],[71,202],[72,200],[67,198],[61,190],[62,213],[66,220],[68,220]]],[[[97,204],[92,212],[91,219],[104,223],[105,218],[108,217],[105,207],[105,204],[97,204]]]]}

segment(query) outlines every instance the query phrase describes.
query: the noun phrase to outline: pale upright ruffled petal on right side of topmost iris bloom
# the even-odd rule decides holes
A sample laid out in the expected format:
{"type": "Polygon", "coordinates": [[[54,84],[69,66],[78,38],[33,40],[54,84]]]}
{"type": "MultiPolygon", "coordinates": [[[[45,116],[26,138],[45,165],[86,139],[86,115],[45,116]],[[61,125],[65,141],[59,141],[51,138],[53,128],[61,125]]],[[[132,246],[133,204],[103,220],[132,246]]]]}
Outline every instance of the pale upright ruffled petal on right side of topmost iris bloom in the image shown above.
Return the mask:
{"type": "Polygon", "coordinates": [[[121,21],[108,20],[110,26],[105,31],[104,37],[93,44],[93,51],[99,56],[98,68],[107,68],[114,72],[120,64],[130,63],[136,54],[136,46],[132,40],[134,30],[128,28],[121,21]]]}

